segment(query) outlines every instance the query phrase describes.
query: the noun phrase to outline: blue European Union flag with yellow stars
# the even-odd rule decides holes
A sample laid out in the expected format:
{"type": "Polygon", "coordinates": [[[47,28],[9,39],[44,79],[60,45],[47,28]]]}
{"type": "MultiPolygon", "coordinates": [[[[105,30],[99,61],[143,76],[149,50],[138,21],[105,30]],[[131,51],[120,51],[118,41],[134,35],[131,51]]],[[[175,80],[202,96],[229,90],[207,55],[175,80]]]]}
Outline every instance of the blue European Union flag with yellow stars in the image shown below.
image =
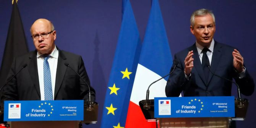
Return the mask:
{"type": "Polygon", "coordinates": [[[131,89],[139,61],[141,42],[129,0],[125,2],[108,88],[101,128],[124,128],[131,89]]]}

